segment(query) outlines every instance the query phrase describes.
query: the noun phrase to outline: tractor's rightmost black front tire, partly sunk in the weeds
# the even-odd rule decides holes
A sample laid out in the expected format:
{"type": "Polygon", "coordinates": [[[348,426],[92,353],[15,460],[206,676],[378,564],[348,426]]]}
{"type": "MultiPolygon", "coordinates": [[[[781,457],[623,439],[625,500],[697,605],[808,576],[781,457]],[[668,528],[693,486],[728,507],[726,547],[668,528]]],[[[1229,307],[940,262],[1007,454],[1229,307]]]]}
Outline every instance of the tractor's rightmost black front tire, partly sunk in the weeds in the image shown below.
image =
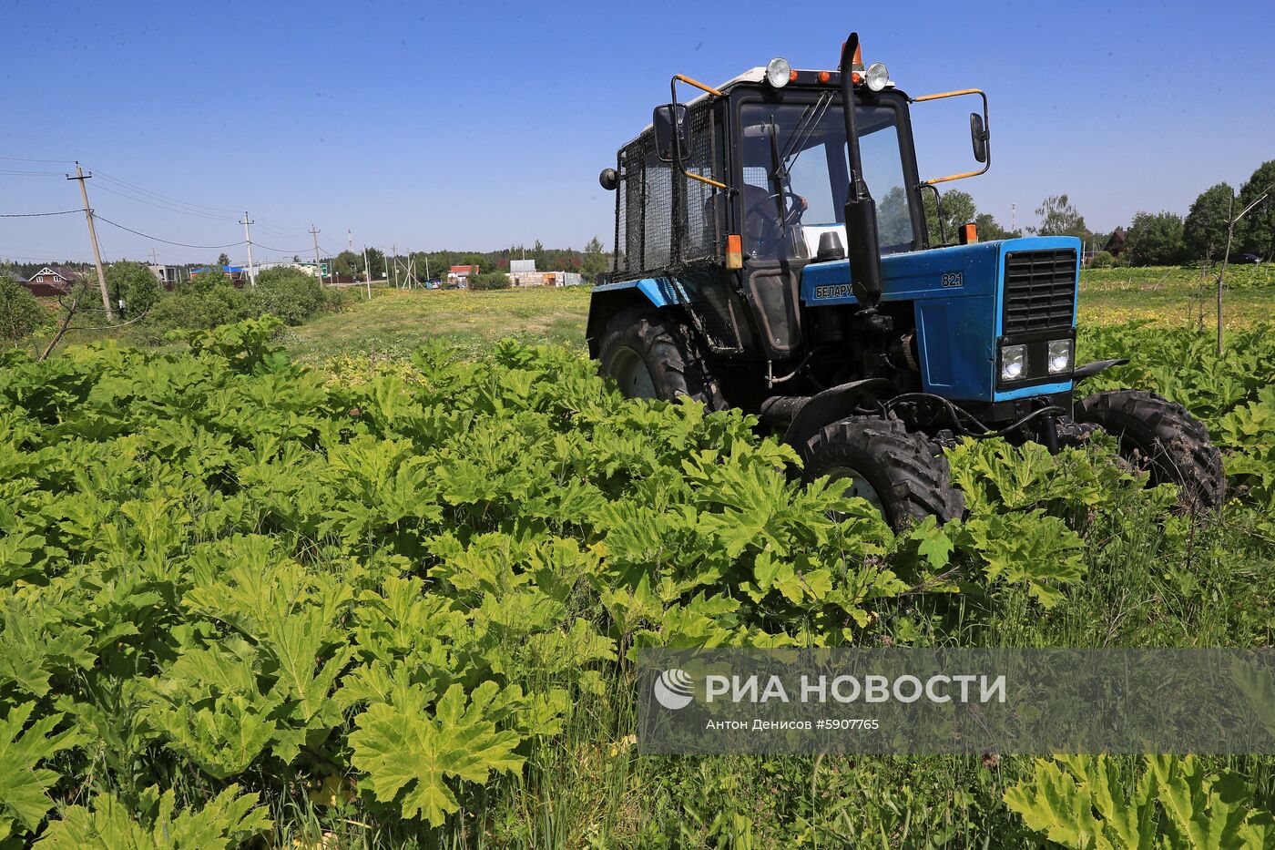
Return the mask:
{"type": "Polygon", "coordinates": [[[1215,511],[1227,495],[1221,453],[1209,429],[1177,402],[1142,389],[1109,389],[1076,405],[1076,421],[1119,440],[1121,456],[1150,472],[1150,482],[1176,484],[1183,511],[1215,511]]]}

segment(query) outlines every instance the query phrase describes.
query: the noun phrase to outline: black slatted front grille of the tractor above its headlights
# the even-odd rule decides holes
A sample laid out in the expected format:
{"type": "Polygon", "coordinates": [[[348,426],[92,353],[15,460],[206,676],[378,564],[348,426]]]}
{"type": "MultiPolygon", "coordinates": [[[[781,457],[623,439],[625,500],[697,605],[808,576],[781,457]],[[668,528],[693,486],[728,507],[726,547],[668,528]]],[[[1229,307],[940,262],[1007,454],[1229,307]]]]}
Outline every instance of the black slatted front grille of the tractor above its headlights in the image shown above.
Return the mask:
{"type": "Polygon", "coordinates": [[[1002,334],[1070,328],[1075,311],[1075,249],[1005,255],[1002,334]]]}

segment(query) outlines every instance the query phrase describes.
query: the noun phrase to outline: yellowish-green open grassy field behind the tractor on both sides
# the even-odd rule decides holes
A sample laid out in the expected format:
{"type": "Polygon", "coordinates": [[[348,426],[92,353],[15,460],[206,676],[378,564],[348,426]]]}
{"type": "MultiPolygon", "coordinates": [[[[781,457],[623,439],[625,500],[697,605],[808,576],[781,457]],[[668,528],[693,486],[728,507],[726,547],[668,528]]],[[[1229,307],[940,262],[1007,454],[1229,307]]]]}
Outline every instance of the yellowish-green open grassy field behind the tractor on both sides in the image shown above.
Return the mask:
{"type": "MultiPolygon", "coordinates": [[[[1241,267],[1228,272],[1228,278],[1234,287],[1225,294],[1227,328],[1270,318],[1275,268],[1241,267]]],[[[1202,278],[1195,269],[1085,271],[1080,323],[1109,325],[1144,319],[1159,327],[1213,327],[1213,278],[1202,278]]],[[[371,301],[357,301],[344,313],[293,329],[288,347],[298,360],[309,362],[346,355],[404,357],[435,337],[470,354],[507,336],[583,348],[588,311],[589,288],[584,286],[499,292],[376,290],[371,301]]]]}

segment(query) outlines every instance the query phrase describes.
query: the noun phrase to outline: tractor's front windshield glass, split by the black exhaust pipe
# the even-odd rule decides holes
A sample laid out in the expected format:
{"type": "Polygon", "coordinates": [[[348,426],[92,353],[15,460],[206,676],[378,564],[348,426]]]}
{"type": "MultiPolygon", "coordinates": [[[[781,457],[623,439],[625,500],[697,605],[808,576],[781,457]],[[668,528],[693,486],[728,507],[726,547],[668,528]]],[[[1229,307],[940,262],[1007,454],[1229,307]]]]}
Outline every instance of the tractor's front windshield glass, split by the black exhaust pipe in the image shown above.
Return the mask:
{"type": "MultiPolygon", "coordinates": [[[[740,117],[746,250],[757,259],[806,259],[830,230],[845,246],[849,167],[840,105],[826,96],[751,102],[740,117]]],[[[881,253],[910,250],[915,234],[898,111],[892,105],[859,106],[856,119],[863,176],[877,204],[881,253]]]]}

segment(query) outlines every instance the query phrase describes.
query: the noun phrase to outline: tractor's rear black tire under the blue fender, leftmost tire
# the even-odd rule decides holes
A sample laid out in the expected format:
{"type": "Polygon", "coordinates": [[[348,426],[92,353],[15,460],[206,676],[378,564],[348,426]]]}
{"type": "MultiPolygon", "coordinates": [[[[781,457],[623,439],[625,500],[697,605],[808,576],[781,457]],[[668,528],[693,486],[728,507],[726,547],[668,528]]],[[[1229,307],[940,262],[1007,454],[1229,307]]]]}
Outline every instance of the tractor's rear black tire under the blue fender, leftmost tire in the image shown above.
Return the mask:
{"type": "Polygon", "coordinates": [[[673,401],[688,396],[710,410],[727,410],[722,385],[695,343],[695,332],[654,308],[630,308],[607,324],[598,371],[630,398],[673,401]]]}

